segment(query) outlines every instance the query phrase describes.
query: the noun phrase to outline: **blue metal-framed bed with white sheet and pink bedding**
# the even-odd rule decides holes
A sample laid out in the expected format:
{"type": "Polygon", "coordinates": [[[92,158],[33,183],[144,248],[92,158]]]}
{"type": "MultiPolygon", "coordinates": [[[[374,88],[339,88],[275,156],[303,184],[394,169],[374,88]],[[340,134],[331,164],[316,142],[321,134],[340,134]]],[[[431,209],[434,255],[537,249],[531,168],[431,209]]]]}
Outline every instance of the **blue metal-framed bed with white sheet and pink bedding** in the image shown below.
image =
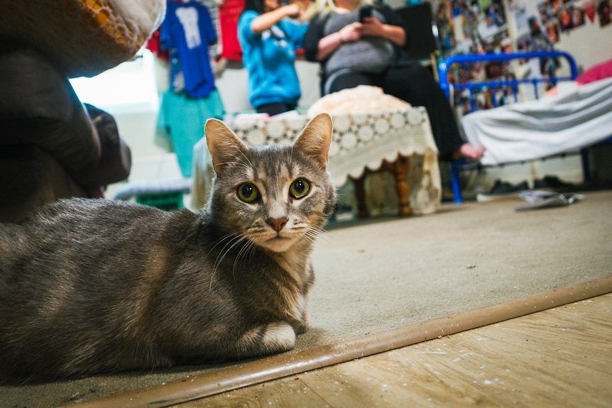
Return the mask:
{"type": "MultiPolygon", "coordinates": [[[[486,148],[478,166],[505,165],[580,153],[584,181],[588,182],[589,155],[586,149],[612,140],[612,78],[604,74],[609,72],[606,64],[598,65],[579,77],[572,55],[560,51],[454,55],[439,65],[440,85],[452,101],[457,100],[457,92],[469,94],[467,109],[471,113],[461,117],[461,129],[470,143],[486,148]],[[464,84],[451,84],[448,80],[449,70],[454,64],[457,67],[457,64],[486,65],[491,62],[532,59],[564,60],[570,73],[565,77],[501,77],[464,84]],[[593,72],[598,75],[592,75],[593,72]],[[555,91],[554,94],[543,92],[545,84],[555,91]],[[518,89],[525,85],[532,87],[532,97],[535,100],[519,101],[518,89]],[[479,102],[477,93],[483,89],[488,89],[491,97],[479,102]],[[503,89],[510,90],[510,98],[499,98],[500,92],[506,92],[503,89]],[[508,103],[508,99],[510,104],[498,106],[499,100],[508,103]]],[[[474,163],[465,160],[451,165],[454,202],[457,204],[463,202],[459,172],[469,167],[474,167],[474,163]]]]}

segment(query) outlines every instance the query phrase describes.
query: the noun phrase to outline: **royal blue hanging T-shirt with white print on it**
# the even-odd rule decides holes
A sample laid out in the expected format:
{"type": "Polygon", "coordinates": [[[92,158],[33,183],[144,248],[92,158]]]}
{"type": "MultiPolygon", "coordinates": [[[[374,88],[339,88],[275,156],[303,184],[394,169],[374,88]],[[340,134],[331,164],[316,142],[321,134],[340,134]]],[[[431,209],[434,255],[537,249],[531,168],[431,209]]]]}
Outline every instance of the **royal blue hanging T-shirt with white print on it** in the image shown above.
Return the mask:
{"type": "Polygon", "coordinates": [[[197,1],[168,1],[160,28],[160,45],[170,51],[173,89],[185,89],[193,98],[207,97],[213,89],[209,46],[217,43],[217,31],[206,6],[197,1]]]}

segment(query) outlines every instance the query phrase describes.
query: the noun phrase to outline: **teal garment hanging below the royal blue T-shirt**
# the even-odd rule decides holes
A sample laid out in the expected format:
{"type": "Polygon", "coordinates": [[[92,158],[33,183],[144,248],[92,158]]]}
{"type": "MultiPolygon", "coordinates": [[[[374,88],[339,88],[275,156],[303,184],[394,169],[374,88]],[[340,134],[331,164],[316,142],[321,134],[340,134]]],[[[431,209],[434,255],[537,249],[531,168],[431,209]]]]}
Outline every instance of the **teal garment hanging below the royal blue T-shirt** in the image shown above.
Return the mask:
{"type": "Polygon", "coordinates": [[[204,123],[209,118],[223,119],[225,109],[221,95],[213,89],[208,97],[189,98],[170,89],[162,95],[158,130],[168,132],[180,171],[191,177],[193,146],[204,136],[204,123]]]}

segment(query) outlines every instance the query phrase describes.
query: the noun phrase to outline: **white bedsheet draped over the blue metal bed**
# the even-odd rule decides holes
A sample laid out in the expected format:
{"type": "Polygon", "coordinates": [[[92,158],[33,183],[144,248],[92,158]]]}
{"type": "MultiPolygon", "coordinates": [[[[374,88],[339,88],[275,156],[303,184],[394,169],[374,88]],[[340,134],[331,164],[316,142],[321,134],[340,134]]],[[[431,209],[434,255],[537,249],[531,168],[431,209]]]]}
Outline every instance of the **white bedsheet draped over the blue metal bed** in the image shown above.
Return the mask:
{"type": "Polygon", "coordinates": [[[461,118],[467,140],[486,148],[481,163],[545,158],[612,136],[612,78],[557,96],[476,111],[461,118]]]}

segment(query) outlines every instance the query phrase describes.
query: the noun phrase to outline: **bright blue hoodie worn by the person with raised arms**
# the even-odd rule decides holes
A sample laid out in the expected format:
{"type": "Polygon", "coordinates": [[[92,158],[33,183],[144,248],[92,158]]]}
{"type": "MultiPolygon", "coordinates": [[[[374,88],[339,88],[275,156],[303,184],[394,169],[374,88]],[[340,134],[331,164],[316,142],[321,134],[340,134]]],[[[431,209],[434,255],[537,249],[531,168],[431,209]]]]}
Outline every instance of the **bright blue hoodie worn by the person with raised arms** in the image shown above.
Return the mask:
{"type": "Polygon", "coordinates": [[[253,33],[256,11],[242,13],[238,39],[248,72],[248,101],[257,107],[283,103],[297,105],[302,96],[295,70],[295,50],[302,47],[307,24],[284,19],[261,34],[253,33]]]}

